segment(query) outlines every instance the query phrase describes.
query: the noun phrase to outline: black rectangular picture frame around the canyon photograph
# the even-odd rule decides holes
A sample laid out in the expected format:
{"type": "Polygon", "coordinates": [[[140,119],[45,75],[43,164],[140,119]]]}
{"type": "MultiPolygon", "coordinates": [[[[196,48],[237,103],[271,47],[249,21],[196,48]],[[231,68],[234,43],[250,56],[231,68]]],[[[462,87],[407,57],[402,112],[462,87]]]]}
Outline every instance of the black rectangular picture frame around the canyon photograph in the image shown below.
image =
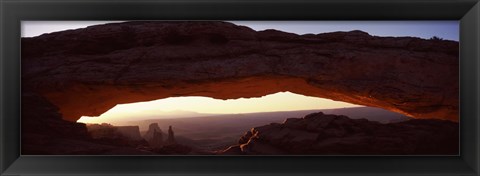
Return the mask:
{"type": "Polygon", "coordinates": [[[1,175],[479,175],[478,0],[0,0],[1,175]],[[22,156],[22,20],[460,20],[460,156],[22,156]]]}

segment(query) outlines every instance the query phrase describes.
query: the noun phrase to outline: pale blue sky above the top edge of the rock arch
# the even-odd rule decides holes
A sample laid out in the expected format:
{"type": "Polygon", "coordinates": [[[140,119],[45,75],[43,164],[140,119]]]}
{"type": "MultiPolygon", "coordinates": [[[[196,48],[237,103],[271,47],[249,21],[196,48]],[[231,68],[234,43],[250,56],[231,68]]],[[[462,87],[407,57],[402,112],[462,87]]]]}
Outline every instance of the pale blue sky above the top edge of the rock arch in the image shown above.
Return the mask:
{"type": "MultiPolygon", "coordinates": [[[[121,21],[22,21],[22,37],[121,21]]],[[[254,30],[277,29],[296,34],[362,30],[376,36],[437,36],[459,40],[459,21],[229,21],[254,30]]]]}

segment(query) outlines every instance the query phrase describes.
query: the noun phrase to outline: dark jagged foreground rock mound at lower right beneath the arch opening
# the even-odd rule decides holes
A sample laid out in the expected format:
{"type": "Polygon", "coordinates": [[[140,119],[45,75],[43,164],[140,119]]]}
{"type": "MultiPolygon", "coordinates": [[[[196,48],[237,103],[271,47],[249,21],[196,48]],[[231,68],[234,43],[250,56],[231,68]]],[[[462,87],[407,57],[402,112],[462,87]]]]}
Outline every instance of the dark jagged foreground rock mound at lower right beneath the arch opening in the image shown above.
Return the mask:
{"type": "Polygon", "coordinates": [[[320,112],[252,128],[221,154],[456,155],[458,135],[451,121],[380,124],[320,112]]]}

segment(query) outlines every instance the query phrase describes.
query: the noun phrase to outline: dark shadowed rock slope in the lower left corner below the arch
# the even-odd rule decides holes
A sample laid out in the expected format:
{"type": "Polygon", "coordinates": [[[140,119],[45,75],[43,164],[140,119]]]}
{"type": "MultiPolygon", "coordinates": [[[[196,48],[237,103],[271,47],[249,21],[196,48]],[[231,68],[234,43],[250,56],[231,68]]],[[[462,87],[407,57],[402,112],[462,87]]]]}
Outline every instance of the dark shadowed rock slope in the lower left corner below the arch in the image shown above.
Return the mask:
{"type": "Polygon", "coordinates": [[[93,139],[85,124],[63,120],[58,108],[31,91],[23,91],[22,100],[23,155],[153,154],[125,147],[129,141],[93,139]]]}

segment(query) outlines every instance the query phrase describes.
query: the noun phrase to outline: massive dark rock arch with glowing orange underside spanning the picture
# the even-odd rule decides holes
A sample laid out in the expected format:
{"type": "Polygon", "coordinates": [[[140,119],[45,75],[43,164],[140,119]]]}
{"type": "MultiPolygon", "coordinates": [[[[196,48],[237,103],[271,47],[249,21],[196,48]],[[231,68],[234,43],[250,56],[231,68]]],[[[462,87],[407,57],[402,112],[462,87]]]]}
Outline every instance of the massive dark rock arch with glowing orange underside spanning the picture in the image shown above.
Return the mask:
{"type": "Polygon", "coordinates": [[[22,86],[68,121],[120,103],[279,91],[458,121],[458,48],[361,31],[295,35],[226,22],[126,22],[23,38],[22,86]]]}

